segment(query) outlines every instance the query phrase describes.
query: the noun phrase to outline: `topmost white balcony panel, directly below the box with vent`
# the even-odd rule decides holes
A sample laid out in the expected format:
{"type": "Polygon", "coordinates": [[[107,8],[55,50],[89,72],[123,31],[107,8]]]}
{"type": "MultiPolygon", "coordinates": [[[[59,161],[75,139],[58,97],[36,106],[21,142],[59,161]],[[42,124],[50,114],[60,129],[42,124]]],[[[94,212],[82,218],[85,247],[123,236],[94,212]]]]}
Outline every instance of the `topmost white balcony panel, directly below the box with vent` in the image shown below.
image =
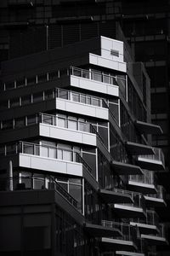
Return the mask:
{"type": "Polygon", "coordinates": [[[111,68],[123,73],[127,72],[127,63],[122,61],[113,61],[103,56],[89,54],[89,64],[97,65],[99,67],[111,68]]]}

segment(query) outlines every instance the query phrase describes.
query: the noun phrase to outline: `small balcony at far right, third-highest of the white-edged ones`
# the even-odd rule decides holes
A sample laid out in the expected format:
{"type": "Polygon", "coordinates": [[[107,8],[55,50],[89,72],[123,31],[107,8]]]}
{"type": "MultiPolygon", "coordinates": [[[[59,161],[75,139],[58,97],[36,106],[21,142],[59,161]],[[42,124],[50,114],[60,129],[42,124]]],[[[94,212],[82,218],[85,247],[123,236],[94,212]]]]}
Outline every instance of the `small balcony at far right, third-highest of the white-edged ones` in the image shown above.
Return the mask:
{"type": "Polygon", "coordinates": [[[147,207],[167,207],[165,189],[158,185],[156,194],[144,195],[147,207]]]}

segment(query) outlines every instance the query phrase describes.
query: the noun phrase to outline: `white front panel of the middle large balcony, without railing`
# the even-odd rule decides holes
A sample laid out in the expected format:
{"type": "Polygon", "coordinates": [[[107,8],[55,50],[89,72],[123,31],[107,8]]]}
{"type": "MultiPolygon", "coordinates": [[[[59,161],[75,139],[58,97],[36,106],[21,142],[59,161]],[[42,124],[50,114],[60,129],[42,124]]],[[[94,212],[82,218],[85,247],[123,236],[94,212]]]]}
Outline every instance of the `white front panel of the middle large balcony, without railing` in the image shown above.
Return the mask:
{"type": "Polygon", "coordinates": [[[56,98],[56,108],[71,113],[79,113],[99,119],[109,119],[107,108],[86,105],[80,102],[71,102],[65,99],[56,98]]]}

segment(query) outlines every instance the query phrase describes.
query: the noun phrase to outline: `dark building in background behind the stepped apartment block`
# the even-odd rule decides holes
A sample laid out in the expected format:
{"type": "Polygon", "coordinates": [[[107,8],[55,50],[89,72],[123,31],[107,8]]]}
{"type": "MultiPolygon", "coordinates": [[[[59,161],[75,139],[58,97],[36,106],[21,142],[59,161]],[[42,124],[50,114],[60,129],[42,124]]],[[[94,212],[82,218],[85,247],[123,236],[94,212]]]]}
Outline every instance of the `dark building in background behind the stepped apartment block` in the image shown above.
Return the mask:
{"type": "MultiPolygon", "coordinates": [[[[167,224],[170,180],[167,172],[169,169],[169,31],[169,1],[161,1],[161,3],[69,0],[0,2],[1,61],[101,35],[124,42],[125,50],[131,55],[130,59],[125,61],[133,62],[135,58],[135,61],[144,62],[151,85],[150,96],[145,95],[144,98],[145,100],[151,98],[152,122],[161,125],[163,130],[162,135],[152,136],[152,145],[162,148],[166,157],[166,170],[157,172],[156,175],[159,183],[167,189],[167,210],[157,210],[167,224]],[[119,29],[120,26],[122,30],[119,29]]],[[[137,75],[139,66],[128,64],[128,69],[131,70],[134,79],[142,84],[140,86],[144,93],[147,83],[144,77],[137,75]]],[[[8,79],[7,82],[5,89],[13,87],[13,81],[10,82],[8,79]]],[[[2,82],[2,88],[3,86],[2,82]]]]}

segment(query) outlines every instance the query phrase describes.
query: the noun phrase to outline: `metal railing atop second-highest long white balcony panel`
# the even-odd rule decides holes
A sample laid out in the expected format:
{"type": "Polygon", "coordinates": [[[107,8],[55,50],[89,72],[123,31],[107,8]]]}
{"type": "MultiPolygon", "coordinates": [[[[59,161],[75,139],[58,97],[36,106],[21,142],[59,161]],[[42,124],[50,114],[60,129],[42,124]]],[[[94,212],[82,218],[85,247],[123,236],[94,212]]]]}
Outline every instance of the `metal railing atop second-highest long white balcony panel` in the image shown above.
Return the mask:
{"type": "Polygon", "coordinates": [[[95,71],[89,71],[87,69],[82,69],[78,67],[70,67],[71,75],[83,78],[83,79],[91,79],[94,81],[102,82],[105,84],[112,84],[118,86],[118,81],[123,83],[125,79],[119,78],[117,76],[111,76],[104,73],[99,73],[95,71]]]}

